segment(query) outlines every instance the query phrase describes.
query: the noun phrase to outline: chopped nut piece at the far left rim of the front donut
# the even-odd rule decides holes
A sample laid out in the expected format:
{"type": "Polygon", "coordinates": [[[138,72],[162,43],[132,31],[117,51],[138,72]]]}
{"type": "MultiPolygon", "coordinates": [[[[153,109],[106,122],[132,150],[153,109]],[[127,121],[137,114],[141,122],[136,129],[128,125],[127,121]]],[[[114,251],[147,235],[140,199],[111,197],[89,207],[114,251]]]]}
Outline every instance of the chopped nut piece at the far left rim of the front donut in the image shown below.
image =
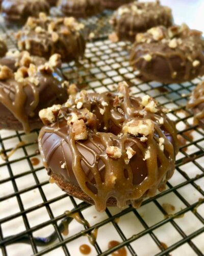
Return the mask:
{"type": "Polygon", "coordinates": [[[55,122],[61,109],[61,105],[53,105],[50,108],[40,110],[39,117],[47,125],[55,122]]]}

